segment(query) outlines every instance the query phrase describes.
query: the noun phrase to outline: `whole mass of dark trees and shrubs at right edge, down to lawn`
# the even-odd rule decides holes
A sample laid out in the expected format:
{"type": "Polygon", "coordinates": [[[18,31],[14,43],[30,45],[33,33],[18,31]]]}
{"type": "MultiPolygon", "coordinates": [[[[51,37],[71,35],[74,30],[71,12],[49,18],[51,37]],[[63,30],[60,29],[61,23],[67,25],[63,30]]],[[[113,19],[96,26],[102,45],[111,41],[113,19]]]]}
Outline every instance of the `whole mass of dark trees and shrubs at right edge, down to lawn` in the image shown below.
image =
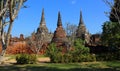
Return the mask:
{"type": "Polygon", "coordinates": [[[119,60],[120,59],[120,0],[113,2],[104,0],[111,8],[110,21],[103,24],[102,42],[109,47],[109,52],[97,55],[97,60],[119,60]],[[116,56],[118,55],[118,56],[116,56]]]}

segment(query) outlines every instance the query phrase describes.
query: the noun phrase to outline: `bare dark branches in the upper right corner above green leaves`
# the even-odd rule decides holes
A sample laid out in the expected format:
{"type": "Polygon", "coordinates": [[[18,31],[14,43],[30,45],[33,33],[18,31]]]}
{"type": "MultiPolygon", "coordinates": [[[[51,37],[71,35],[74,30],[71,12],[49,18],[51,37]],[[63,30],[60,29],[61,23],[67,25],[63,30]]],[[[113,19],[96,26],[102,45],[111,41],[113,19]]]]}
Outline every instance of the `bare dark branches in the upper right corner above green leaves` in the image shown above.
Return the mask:
{"type": "Polygon", "coordinates": [[[103,0],[103,2],[111,9],[111,12],[105,12],[112,22],[120,24],[120,0],[103,0]]]}

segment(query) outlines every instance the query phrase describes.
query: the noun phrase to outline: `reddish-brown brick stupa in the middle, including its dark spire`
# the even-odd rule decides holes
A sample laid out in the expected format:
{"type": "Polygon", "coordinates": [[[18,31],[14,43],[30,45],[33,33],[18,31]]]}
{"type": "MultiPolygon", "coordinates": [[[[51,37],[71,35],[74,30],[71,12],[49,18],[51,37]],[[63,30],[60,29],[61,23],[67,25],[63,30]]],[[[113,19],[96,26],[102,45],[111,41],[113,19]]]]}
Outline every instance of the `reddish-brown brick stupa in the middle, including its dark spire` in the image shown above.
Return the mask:
{"type": "Polygon", "coordinates": [[[65,30],[62,27],[60,12],[58,13],[57,28],[51,42],[56,43],[58,47],[66,47],[68,43],[65,30]]]}

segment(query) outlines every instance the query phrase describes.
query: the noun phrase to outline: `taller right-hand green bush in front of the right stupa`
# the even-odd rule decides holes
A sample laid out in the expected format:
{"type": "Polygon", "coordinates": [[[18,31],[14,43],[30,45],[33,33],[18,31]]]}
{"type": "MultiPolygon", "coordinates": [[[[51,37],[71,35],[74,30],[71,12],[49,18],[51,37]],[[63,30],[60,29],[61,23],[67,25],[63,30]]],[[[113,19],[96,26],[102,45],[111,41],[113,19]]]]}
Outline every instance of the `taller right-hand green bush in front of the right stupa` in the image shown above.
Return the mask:
{"type": "Polygon", "coordinates": [[[86,62],[86,61],[96,61],[95,55],[90,54],[88,47],[85,47],[84,41],[81,39],[76,39],[74,42],[74,50],[72,55],[74,62],[86,62]],[[77,56],[76,56],[77,55],[77,56]]]}

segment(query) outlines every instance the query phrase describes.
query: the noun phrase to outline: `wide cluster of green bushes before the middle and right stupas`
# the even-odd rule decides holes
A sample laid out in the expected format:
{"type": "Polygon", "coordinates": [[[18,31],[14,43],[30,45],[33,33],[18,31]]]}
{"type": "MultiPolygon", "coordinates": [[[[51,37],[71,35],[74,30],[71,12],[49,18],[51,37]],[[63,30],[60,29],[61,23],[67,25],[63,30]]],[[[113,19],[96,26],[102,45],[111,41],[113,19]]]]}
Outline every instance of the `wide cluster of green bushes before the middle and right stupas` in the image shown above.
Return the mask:
{"type": "Polygon", "coordinates": [[[52,63],[72,63],[96,61],[95,55],[89,53],[89,48],[82,45],[82,40],[75,40],[74,47],[62,52],[63,47],[56,47],[54,43],[47,48],[46,55],[52,63]]]}

